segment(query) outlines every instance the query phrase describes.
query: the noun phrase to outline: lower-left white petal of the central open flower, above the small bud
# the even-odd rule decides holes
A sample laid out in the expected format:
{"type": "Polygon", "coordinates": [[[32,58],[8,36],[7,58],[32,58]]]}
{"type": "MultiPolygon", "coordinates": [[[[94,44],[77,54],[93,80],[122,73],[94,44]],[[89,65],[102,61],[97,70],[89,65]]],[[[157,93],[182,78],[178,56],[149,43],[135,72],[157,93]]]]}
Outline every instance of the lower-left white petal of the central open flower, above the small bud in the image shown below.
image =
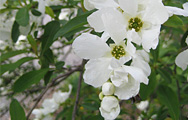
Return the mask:
{"type": "Polygon", "coordinates": [[[102,86],[110,77],[110,58],[89,60],[85,65],[84,81],[94,87],[102,86]]]}

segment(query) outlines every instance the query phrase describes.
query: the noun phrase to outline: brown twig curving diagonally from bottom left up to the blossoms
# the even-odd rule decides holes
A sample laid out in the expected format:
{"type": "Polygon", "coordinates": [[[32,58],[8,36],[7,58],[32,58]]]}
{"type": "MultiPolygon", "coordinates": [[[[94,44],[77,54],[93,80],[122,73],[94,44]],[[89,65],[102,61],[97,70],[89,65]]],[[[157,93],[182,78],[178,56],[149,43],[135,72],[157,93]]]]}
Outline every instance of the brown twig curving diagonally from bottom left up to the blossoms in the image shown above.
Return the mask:
{"type": "Polygon", "coordinates": [[[40,102],[40,100],[42,99],[42,97],[44,96],[44,94],[48,91],[48,89],[49,89],[50,87],[54,86],[56,80],[58,80],[58,79],[60,79],[60,78],[63,78],[63,80],[65,80],[65,79],[66,79],[67,77],[69,77],[72,73],[74,73],[74,72],[76,72],[76,71],[78,71],[78,70],[79,70],[79,67],[78,67],[77,69],[74,69],[74,70],[68,72],[68,73],[65,73],[65,74],[63,74],[63,75],[60,75],[60,76],[54,78],[54,79],[52,80],[52,82],[51,82],[50,84],[48,84],[48,85],[46,86],[46,88],[43,90],[43,92],[37,97],[35,104],[34,104],[33,107],[31,108],[31,110],[29,111],[29,113],[27,114],[27,120],[29,120],[29,117],[30,117],[32,111],[33,111],[33,110],[35,109],[35,107],[38,105],[38,103],[40,102]]]}

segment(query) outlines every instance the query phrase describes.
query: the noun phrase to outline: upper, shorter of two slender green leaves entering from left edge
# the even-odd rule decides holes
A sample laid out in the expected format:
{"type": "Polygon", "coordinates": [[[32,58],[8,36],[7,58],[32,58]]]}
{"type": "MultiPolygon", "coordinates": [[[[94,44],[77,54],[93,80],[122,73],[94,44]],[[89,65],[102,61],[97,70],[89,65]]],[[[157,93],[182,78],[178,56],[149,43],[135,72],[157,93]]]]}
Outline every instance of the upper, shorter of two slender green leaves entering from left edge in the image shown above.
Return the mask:
{"type": "Polygon", "coordinates": [[[19,54],[22,54],[22,53],[26,53],[28,51],[26,50],[18,50],[18,51],[11,51],[11,52],[7,52],[5,54],[2,54],[0,56],[0,62],[10,58],[10,57],[13,57],[13,56],[16,56],[16,55],[19,55],[19,54]]]}

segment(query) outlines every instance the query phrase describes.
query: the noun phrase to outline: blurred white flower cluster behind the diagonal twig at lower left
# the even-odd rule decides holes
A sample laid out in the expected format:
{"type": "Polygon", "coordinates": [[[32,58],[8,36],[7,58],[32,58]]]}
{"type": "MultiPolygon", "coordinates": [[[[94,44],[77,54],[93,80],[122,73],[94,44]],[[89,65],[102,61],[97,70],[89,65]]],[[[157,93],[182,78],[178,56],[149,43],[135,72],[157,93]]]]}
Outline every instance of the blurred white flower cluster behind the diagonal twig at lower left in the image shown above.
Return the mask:
{"type": "Polygon", "coordinates": [[[35,120],[53,120],[50,114],[54,113],[69,98],[71,91],[72,85],[69,85],[68,92],[57,91],[51,99],[45,99],[42,103],[43,108],[34,109],[32,112],[35,115],[35,120]]]}

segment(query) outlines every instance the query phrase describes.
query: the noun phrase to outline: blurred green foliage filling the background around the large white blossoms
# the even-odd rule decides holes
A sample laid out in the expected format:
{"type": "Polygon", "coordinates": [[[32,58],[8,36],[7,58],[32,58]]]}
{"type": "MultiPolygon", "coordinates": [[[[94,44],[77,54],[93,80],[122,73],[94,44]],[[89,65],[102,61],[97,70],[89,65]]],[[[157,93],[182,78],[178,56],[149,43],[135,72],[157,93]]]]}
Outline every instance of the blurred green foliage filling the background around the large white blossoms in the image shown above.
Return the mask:
{"type": "MultiPolygon", "coordinates": [[[[39,24],[38,22],[41,21],[38,20],[32,21],[33,17],[38,19],[43,16],[38,9],[39,3],[37,1],[7,0],[6,8],[0,10],[0,14],[7,14],[6,20],[12,18],[11,11],[17,11],[10,30],[13,45],[10,44],[6,49],[0,50],[2,52],[0,56],[0,76],[3,79],[0,87],[2,87],[1,89],[8,88],[6,92],[12,93],[8,94],[9,98],[18,93],[32,97],[33,93],[39,93],[52,79],[73,70],[75,66],[67,65],[68,63],[64,62],[66,60],[60,59],[59,56],[66,55],[66,52],[62,52],[64,47],[71,45],[74,39],[83,31],[91,31],[92,34],[98,36],[102,35],[102,33],[97,33],[89,27],[87,17],[95,10],[87,11],[83,6],[84,0],[62,0],[61,2],[65,4],[45,6],[45,14],[48,14],[51,19],[47,24],[39,24]],[[61,10],[66,9],[71,11],[67,18],[59,19],[61,10]],[[76,12],[75,9],[77,9],[76,12]],[[28,34],[25,35],[27,36],[25,42],[29,43],[29,47],[26,48],[27,50],[16,50],[14,47],[19,42],[18,38],[23,35],[20,28],[26,28],[26,26],[31,26],[28,34]],[[52,45],[55,41],[62,43],[62,46],[53,48],[52,45]],[[25,54],[27,57],[21,56],[16,62],[11,62],[11,59],[9,59],[21,54],[25,54]],[[36,59],[39,60],[40,70],[36,70],[32,66],[33,64],[27,67],[23,66],[24,63],[30,63],[36,59]],[[19,70],[23,72],[21,73],[19,70]],[[4,74],[6,72],[8,77],[4,74]],[[14,76],[10,76],[11,74],[14,74],[14,76]],[[42,79],[44,81],[41,81],[42,79]],[[25,90],[34,92],[23,92],[25,90]]],[[[182,4],[185,2],[187,0],[163,0],[165,5],[179,8],[182,8],[182,4]]],[[[159,45],[155,50],[150,50],[151,74],[149,84],[140,85],[140,98],[141,100],[148,100],[149,107],[146,112],[141,112],[136,108],[136,103],[132,103],[132,99],[121,101],[121,113],[117,120],[134,120],[138,116],[141,116],[143,120],[186,119],[188,113],[186,108],[188,104],[188,69],[183,72],[175,65],[174,61],[176,56],[186,49],[187,28],[188,18],[176,15],[171,16],[162,25],[159,45]],[[152,118],[153,115],[157,115],[156,118],[152,118]]],[[[111,41],[108,40],[108,42],[111,41]]],[[[78,80],[79,72],[64,80],[63,85],[72,84],[73,90],[70,98],[61,105],[61,109],[55,117],[56,120],[72,119],[78,80]]],[[[64,86],[62,87],[61,84],[58,87],[64,90],[64,86]]],[[[1,89],[0,94],[3,96],[4,91],[1,89]]],[[[82,82],[76,119],[103,120],[98,109],[101,102],[98,97],[100,92],[100,88],[93,88],[82,82]]],[[[28,106],[24,107],[27,110],[28,106]]],[[[12,120],[26,120],[24,110],[17,100],[12,100],[9,110],[12,120]]]]}

